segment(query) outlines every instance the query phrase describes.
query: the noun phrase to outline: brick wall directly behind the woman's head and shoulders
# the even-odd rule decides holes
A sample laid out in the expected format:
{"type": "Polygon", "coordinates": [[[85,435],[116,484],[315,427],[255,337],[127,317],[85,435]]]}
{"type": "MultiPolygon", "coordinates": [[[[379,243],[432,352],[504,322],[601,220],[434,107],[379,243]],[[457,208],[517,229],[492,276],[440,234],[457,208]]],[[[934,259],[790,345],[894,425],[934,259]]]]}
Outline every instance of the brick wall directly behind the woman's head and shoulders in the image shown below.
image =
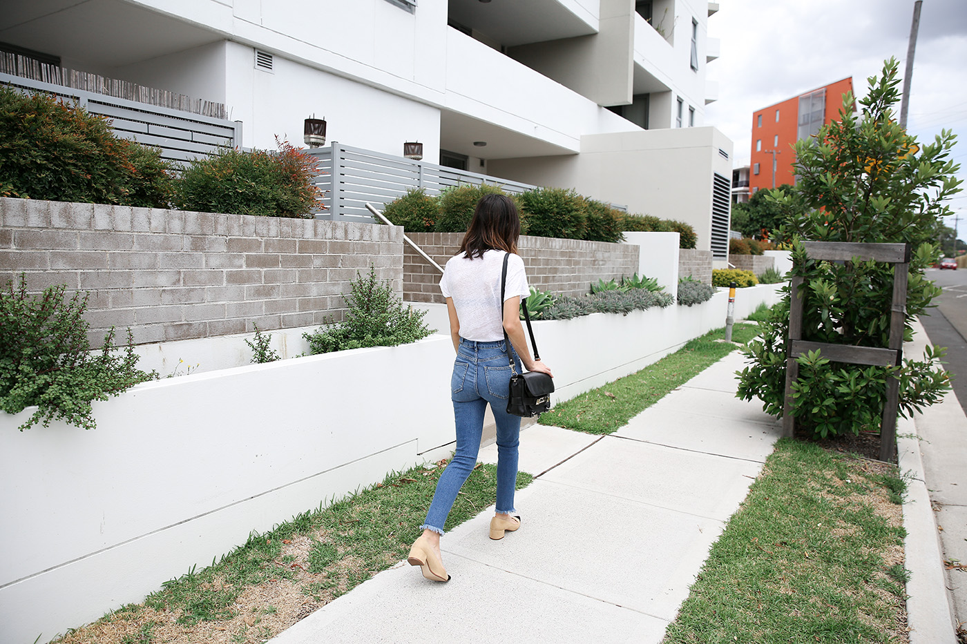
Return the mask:
{"type": "MultiPolygon", "coordinates": [[[[456,254],[463,233],[410,233],[409,237],[444,266],[456,254]]],[[[581,295],[591,290],[591,282],[630,276],[638,270],[638,247],[630,244],[523,236],[518,246],[527,281],[542,291],[581,295]]],[[[711,273],[709,276],[711,279],[711,273]]],[[[404,246],[403,299],[442,304],[439,282],[439,271],[404,246]]]]}

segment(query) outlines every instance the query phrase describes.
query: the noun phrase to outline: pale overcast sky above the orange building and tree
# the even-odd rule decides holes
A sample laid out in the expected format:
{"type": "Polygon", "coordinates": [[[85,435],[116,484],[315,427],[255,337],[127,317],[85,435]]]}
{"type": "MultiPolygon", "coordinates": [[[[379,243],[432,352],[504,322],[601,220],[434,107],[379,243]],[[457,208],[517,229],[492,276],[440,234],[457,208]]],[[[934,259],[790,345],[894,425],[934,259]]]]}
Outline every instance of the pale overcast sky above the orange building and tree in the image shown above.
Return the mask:
{"type": "MultiPolygon", "coordinates": [[[[914,0],[720,0],[719,7],[709,36],[721,41],[721,54],[708,68],[718,101],[706,106],[705,123],[735,142],[736,166],[748,164],[753,111],[846,76],[859,98],[885,59],[900,61],[900,75],[906,64],[914,0]]],[[[907,130],[929,143],[941,129],[957,134],[952,157],[967,180],[967,0],[923,0],[907,130]]],[[[967,181],[961,187],[951,207],[967,240],[967,181]]]]}

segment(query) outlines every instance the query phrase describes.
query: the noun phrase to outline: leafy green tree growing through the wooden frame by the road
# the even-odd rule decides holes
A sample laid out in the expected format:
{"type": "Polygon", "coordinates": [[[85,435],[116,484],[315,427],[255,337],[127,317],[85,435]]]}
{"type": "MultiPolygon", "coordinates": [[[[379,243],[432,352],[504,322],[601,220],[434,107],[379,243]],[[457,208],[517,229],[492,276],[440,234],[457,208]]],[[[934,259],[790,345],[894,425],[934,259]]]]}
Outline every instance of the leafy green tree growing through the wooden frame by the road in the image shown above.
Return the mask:
{"type": "MultiPolygon", "coordinates": [[[[921,148],[915,137],[894,122],[897,64],[884,64],[880,77],[869,78],[859,122],[844,97],[839,122],[815,139],[796,144],[794,188],[769,196],[782,214],[779,234],[793,239],[793,275],[802,277],[803,338],[857,346],[885,347],[890,336],[893,268],[874,262],[818,262],[806,257],[802,240],[827,242],[909,243],[914,253],[906,300],[904,337],[913,335],[910,320],[930,305],[939,289],[923,271],[939,257],[938,221],[943,205],[961,183],[959,166],[950,161],[955,140],[944,131],[921,148]]],[[[738,396],[758,396],[774,416],[782,413],[789,287],[769,319],[760,324],[761,339],[747,348],[751,365],[740,372],[738,396]]],[[[939,366],[943,350],[928,348],[923,361],[901,366],[854,366],[831,363],[821,355],[798,360],[793,414],[797,424],[819,436],[878,426],[888,378],[899,379],[900,410],[906,415],[932,404],[950,385],[939,366]]]]}

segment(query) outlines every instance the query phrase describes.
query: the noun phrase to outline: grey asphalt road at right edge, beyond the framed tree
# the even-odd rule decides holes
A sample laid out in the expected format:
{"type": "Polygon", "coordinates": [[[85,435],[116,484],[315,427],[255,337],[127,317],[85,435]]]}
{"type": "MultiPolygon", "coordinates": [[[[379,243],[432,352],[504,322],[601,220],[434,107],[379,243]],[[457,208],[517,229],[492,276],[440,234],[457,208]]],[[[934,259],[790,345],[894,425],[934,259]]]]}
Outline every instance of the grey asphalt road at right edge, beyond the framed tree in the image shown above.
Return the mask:
{"type": "Polygon", "coordinates": [[[920,321],[931,343],[947,347],[953,393],[967,413],[967,270],[927,269],[926,277],[944,292],[934,301],[937,307],[928,308],[929,314],[921,315],[920,321]]]}

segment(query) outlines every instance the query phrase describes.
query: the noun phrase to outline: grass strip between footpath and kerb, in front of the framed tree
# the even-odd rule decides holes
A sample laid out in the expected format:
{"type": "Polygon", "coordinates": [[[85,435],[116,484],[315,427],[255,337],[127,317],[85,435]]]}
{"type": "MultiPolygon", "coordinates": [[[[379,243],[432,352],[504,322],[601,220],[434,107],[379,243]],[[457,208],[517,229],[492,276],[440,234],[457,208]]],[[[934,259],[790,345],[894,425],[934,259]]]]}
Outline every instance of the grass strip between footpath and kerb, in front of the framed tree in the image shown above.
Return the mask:
{"type": "Polygon", "coordinates": [[[663,644],[906,642],[894,465],[782,439],[663,644]]]}

